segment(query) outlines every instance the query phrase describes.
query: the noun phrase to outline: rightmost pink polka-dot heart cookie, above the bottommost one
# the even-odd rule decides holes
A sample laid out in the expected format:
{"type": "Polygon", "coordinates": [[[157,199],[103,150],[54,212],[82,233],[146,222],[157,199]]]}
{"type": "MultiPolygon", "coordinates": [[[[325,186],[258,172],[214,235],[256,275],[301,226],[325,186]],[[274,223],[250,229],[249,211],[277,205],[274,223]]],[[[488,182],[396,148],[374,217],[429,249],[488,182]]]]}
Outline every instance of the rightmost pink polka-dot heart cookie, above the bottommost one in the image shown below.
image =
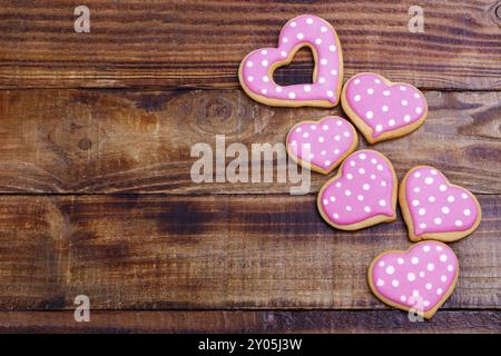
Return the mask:
{"type": "Polygon", "coordinates": [[[433,167],[414,167],[405,175],[399,202],[412,241],[454,241],[473,233],[481,219],[477,198],[433,167]]]}

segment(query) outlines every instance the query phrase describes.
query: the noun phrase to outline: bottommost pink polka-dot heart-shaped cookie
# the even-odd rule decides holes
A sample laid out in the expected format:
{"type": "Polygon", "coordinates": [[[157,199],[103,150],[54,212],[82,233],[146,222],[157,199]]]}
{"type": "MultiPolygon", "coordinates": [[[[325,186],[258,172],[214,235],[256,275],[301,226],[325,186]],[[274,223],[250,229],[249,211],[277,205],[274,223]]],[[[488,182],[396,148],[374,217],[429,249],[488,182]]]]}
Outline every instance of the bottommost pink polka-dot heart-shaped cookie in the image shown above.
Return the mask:
{"type": "Polygon", "coordinates": [[[387,305],[431,318],[455,287],[459,263],[439,241],[422,241],[407,251],[379,255],[369,267],[369,285],[387,305]]]}

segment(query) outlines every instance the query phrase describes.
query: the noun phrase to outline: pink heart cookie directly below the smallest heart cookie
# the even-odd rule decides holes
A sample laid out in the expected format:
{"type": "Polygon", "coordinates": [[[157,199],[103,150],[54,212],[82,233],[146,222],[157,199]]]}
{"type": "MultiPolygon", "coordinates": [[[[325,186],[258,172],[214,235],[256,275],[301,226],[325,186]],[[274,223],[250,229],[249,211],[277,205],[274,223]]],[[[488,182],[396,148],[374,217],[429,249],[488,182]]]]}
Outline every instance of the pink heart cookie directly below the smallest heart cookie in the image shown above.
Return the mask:
{"type": "Polygon", "coordinates": [[[356,230],[396,218],[396,176],[390,160],[373,150],[350,155],[318,192],[317,207],[330,225],[356,230]]]}

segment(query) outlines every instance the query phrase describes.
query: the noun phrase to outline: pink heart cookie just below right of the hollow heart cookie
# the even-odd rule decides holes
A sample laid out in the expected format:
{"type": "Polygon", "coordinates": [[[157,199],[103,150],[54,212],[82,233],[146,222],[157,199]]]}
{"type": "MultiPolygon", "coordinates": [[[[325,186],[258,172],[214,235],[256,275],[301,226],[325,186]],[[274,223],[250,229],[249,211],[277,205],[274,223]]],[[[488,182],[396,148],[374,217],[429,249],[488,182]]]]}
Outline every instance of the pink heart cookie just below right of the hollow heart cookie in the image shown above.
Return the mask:
{"type": "Polygon", "coordinates": [[[407,135],[428,115],[426,99],[419,89],[369,72],[350,78],[341,103],[370,144],[407,135]]]}

